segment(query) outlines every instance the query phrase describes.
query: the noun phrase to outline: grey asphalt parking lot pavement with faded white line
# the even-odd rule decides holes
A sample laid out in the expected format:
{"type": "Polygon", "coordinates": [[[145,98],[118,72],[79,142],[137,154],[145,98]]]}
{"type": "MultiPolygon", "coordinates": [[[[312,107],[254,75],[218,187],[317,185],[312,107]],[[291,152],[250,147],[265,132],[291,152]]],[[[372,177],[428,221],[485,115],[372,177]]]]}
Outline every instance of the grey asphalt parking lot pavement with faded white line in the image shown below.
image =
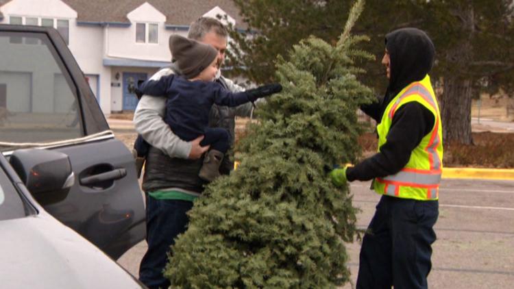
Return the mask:
{"type": "MultiPolygon", "coordinates": [[[[365,229],[380,196],[369,190],[369,182],[352,183],[352,194],[354,205],[362,210],[358,225],[365,229]]],[[[513,220],[514,181],[443,179],[429,288],[512,288],[513,220]]],[[[119,264],[137,277],[145,249],[146,242],[140,242],[118,260],[119,264]]],[[[355,282],[360,244],[347,244],[347,250],[355,282]]],[[[352,284],[341,288],[352,288],[352,284]]]]}

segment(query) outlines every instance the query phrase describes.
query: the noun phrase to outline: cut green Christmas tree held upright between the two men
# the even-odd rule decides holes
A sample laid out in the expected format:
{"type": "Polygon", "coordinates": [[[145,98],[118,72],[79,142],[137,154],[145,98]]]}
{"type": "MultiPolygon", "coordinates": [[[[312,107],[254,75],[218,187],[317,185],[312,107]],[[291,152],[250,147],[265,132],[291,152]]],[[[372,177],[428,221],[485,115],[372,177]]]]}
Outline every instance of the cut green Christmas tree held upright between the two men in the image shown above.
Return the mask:
{"type": "Polygon", "coordinates": [[[371,58],[354,49],[366,38],[350,35],[363,5],[335,46],[308,38],[289,62],[278,59],[284,90],[247,127],[238,169],[195,201],[164,273],[174,288],[335,288],[350,279],[344,242],[357,234],[356,208],[327,172],[358,157],[356,111],[372,95],[354,66],[371,58]]]}

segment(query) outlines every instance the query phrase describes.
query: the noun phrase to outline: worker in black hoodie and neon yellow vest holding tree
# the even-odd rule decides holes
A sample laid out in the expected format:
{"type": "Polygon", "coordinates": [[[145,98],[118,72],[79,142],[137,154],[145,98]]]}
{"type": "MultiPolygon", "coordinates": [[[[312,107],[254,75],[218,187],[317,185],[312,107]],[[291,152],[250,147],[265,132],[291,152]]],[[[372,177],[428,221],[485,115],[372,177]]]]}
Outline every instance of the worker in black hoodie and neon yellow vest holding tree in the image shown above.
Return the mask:
{"type": "Polygon", "coordinates": [[[330,173],[336,186],[373,179],[382,194],[360,249],[357,288],[428,288],[443,168],[441,115],[428,73],[435,48],[425,32],[387,34],[389,87],[361,108],[377,123],[378,152],[330,173]]]}

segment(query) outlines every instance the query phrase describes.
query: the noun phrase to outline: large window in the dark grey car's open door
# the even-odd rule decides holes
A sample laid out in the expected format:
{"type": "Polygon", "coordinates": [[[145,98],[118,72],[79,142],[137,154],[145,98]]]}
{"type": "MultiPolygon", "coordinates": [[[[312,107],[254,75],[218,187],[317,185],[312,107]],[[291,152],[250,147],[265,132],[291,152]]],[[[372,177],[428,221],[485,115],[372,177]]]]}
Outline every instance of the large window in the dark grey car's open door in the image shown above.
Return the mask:
{"type": "Polygon", "coordinates": [[[82,136],[77,88],[47,34],[0,32],[0,51],[0,142],[82,136]]]}

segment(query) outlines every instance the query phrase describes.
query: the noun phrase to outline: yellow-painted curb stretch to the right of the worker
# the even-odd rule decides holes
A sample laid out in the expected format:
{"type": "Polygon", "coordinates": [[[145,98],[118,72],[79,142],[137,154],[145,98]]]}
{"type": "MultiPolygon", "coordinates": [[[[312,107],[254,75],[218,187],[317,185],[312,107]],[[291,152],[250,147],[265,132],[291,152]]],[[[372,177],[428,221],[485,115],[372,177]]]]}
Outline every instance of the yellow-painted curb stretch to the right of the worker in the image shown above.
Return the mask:
{"type": "Polygon", "coordinates": [[[509,168],[443,168],[443,179],[505,179],[514,180],[509,168]]]}

